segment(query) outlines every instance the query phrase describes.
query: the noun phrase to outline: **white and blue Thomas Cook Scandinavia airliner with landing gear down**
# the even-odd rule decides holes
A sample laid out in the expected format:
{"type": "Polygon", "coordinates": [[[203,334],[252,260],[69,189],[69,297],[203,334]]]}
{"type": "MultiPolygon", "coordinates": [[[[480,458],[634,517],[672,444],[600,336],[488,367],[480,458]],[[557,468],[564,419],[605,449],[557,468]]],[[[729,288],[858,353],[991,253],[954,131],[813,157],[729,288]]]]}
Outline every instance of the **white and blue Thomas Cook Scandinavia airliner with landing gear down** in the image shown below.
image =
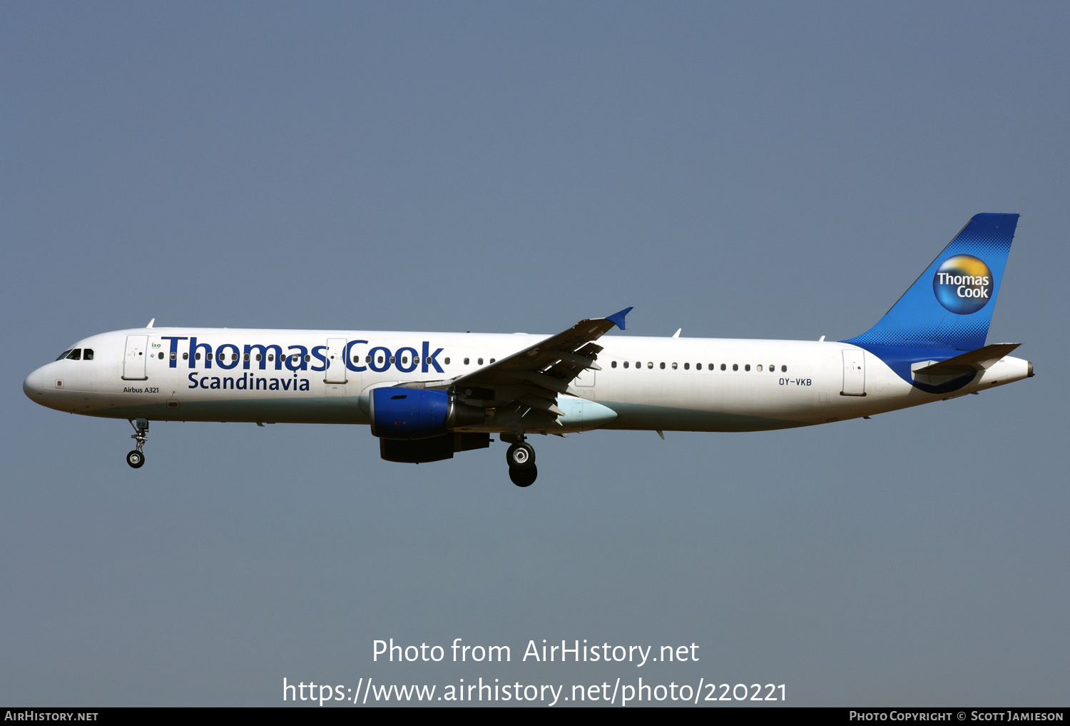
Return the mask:
{"type": "Polygon", "coordinates": [[[78,341],[22,390],[60,411],[150,421],[370,425],[388,462],[508,443],[535,482],[531,435],[756,432],[869,418],[1034,375],[987,345],[1018,214],[977,214],[873,328],[855,337],[606,336],[630,307],[556,335],[146,328],[78,341]]]}

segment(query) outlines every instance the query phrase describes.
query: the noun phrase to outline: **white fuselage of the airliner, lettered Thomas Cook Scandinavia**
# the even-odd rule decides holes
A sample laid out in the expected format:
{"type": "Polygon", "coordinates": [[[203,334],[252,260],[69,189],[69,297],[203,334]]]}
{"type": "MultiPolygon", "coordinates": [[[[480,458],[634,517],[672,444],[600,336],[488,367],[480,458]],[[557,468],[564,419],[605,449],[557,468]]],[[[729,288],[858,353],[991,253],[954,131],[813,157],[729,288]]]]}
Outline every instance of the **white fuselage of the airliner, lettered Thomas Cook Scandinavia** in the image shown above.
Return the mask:
{"type": "MultiPolygon", "coordinates": [[[[545,337],[135,329],[79,341],[73,348],[92,350],[92,360],[49,363],[30,374],[24,388],[44,406],[95,417],[367,424],[372,388],[449,380],[545,337]]],[[[964,388],[930,394],[845,343],[606,336],[599,345],[601,369],[585,372],[561,398],[595,402],[612,413],[588,414],[586,424],[581,417],[568,426],[571,430],[805,426],[916,406],[1029,375],[1026,361],[1007,357],[964,388]]],[[[457,393],[464,398],[465,391],[457,393]]],[[[464,430],[508,429],[491,414],[484,425],[464,430]]]]}

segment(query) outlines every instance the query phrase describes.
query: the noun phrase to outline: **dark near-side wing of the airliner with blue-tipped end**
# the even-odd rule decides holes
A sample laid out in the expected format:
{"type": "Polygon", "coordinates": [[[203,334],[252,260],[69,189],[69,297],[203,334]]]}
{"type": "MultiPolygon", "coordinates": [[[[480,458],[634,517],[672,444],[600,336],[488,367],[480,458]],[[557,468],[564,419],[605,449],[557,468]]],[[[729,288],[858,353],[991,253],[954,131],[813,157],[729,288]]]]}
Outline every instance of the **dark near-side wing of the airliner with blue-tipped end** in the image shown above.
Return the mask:
{"type": "Polygon", "coordinates": [[[601,369],[595,360],[602,347],[595,341],[613,326],[624,330],[629,312],[626,307],[605,318],[580,320],[562,333],[455,379],[450,388],[470,406],[513,407],[519,417],[534,409],[556,422],[564,414],[556,406],[557,395],[583,370],[601,369]]]}

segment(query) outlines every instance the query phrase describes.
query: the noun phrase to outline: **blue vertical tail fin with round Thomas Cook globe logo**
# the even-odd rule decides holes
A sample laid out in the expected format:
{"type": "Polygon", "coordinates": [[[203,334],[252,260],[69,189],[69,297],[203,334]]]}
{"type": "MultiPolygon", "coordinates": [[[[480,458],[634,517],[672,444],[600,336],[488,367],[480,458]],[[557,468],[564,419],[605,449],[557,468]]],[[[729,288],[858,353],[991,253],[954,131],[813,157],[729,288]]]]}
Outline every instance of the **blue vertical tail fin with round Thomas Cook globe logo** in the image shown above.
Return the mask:
{"type": "Polygon", "coordinates": [[[977,214],[881,320],[843,343],[975,350],[984,345],[1018,214],[977,214]]]}

